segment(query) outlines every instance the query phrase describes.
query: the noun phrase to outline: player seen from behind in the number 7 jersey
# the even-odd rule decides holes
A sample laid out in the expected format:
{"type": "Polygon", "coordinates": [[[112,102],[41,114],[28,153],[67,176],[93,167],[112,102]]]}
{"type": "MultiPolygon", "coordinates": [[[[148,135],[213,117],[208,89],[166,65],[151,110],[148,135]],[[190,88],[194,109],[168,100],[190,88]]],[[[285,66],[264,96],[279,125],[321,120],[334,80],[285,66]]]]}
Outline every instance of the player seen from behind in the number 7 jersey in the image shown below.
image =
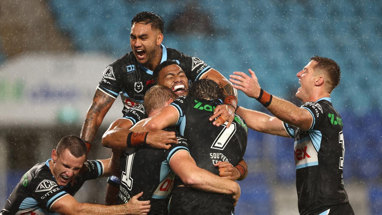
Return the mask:
{"type": "MultiPolygon", "coordinates": [[[[229,128],[224,125],[216,127],[207,119],[206,116],[209,116],[216,106],[222,104],[221,98],[219,85],[215,81],[197,80],[190,89],[190,96],[175,99],[155,116],[138,122],[131,130],[147,132],[176,125],[180,129],[180,134],[187,138],[189,151],[196,165],[219,175],[219,170],[215,166],[219,161],[237,165],[242,160],[248,136],[247,126],[237,114],[235,114],[235,122],[232,122],[229,128]]],[[[200,191],[189,187],[188,180],[192,178],[178,174],[178,171],[189,171],[188,166],[182,165],[182,162],[184,162],[183,158],[174,160],[174,163],[170,161],[172,170],[180,177],[180,180],[175,182],[176,187],[170,194],[169,214],[230,214],[234,212],[234,204],[232,204],[234,200],[230,195],[215,192],[213,189],[206,192],[206,190],[200,191]]],[[[208,184],[208,181],[205,183],[208,184]]]]}

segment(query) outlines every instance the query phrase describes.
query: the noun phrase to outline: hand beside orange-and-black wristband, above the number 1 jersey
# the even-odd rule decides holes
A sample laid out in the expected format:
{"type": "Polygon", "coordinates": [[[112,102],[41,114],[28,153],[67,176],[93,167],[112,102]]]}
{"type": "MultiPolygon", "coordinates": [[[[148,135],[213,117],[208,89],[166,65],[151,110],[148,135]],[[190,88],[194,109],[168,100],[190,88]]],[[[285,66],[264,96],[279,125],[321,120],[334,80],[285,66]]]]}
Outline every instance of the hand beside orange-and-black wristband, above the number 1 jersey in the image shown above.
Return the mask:
{"type": "Polygon", "coordinates": [[[176,143],[178,143],[178,139],[173,131],[155,130],[149,132],[146,138],[146,144],[154,148],[169,149],[171,144],[176,143]]]}

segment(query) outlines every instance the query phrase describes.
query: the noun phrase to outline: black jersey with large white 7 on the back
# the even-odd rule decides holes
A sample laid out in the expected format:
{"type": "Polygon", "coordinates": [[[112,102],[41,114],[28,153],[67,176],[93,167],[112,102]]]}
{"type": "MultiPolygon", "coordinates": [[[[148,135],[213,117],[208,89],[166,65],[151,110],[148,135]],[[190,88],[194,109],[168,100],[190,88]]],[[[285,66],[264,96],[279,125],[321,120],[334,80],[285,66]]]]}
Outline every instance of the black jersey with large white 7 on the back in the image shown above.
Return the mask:
{"type": "Polygon", "coordinates": [[[219,175],[214,164],[227,161],[236,166],[243,158],[248,128],[244,120],[235,113],[235,119],[227,129],[209,121],[216,106],[223,104],[221,99],[204,100],[191,96],[180,96],[170,104],[178,110],[180,134],[187,138],[191,156],[197,166],[219,175]]]}

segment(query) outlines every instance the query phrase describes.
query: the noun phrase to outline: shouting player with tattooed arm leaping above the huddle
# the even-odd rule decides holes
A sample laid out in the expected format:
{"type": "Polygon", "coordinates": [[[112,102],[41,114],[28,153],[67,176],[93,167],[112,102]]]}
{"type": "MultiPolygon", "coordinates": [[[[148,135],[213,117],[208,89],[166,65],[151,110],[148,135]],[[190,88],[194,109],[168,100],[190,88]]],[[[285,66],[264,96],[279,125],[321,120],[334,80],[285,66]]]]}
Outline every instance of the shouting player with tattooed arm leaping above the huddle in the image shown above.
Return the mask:
{"type": "MultiPolygon", "coordinates": [[[[134,104],[142,103],[146,91],[154,86],[152,71],[165,60],[179,62],[191,81],[208,76],[219,83],[227,96],[227,101],[230,102],[217,108],[219,111],[215,114],[221,117],[213,123],[220,125],[227,120],[227,126],[229,126],[232,122],[237,103],[237,91],[222,74],[202,60],[163,46],[163,29],[164,21],[155,13],[141,12],[131,20],[132,51],[106,67],[86,114],[80,137],[85,141],[88,153],[102,120],[117,96],[120,94],[125,105],[123,113],[134,104]]],[[[180,94],[185,89],[178,86],[173,91],[180,94]]]]}

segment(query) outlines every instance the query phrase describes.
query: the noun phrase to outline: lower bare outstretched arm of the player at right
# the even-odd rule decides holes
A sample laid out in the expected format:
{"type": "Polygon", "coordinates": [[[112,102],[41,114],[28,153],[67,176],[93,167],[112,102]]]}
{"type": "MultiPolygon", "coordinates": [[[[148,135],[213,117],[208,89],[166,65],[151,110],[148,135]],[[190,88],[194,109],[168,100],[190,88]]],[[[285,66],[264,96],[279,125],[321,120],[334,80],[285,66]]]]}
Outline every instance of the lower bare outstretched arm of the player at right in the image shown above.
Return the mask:
{"type": "Polygon", "coordinates": [[[250,129],[266,134],[289,137],[284,129],[283,122],[276,117],[243,107],[238,107],[236,113],[243,117],[250,129]]]}

